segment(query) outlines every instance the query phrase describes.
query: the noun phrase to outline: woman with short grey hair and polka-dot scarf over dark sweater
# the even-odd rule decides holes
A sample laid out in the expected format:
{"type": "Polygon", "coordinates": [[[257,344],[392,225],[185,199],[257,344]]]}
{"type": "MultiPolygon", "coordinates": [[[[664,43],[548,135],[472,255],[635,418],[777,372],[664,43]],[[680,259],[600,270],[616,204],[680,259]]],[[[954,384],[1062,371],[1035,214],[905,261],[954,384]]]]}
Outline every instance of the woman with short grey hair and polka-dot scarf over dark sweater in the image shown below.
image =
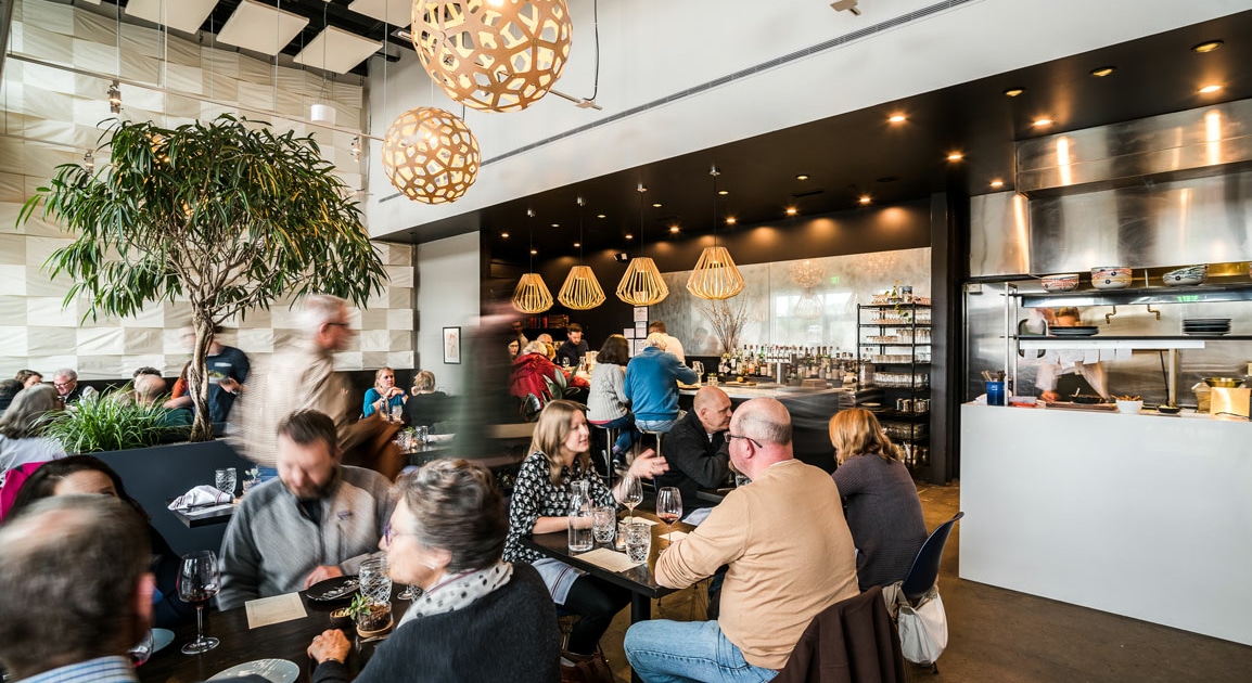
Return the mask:
{"type": "MultiPolygon", "coordinates": [[[[491,472],[436,460],[396,488],[381,547],[392,579],[422,594],[358,680],[558,680],[556,609],[533,567],[501,560],[508,519],[491,472]]],[[[349,680],[351,649],[339,629],[314,638],[313,680],[349,680]]]]}

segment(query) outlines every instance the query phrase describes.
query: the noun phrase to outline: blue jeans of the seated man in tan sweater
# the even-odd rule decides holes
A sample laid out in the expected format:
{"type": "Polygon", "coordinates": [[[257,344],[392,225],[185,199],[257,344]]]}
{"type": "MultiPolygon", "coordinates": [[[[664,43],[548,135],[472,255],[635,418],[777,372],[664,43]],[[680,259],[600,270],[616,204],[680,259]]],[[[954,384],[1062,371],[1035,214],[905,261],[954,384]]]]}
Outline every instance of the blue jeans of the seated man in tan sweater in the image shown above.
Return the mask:
{"type": "Polygon", "coordinates": [[[717,622],[639,622],[626,632],[626,659],[646,683],[762,683],[777,672],[744,660],[717,622]]]}

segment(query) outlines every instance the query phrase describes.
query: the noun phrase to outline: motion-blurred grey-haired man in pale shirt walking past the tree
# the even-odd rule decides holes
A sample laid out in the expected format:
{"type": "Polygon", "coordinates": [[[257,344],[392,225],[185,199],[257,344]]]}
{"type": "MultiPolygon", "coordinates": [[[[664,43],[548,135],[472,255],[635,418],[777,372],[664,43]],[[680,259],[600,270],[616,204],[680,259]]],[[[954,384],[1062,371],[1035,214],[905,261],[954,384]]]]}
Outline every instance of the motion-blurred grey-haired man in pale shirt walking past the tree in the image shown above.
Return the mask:
{"type": "Polygon", "coordinates": [[[228,442],[263,468],[262,479],[275,474],[274,428],[280,419],[295,410],[317,410],[342,430],[359,413],[353,410],[348,382],[334,372],[334,353],[346,350],[356,334],[348,303],[312,294],[300,299],[295,319],[303,339],[248,375],[247,390],[239,394],[227,425],[228,442]]]}

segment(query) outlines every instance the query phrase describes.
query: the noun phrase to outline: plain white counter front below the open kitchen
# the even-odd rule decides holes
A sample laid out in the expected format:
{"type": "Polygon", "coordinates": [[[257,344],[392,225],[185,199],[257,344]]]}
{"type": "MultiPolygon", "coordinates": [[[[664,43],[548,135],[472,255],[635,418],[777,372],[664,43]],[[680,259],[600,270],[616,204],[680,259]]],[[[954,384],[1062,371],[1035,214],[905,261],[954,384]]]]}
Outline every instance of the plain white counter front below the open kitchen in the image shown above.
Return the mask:
{"type": "Polygon", "coordinates": [[[962,578],[1252,644],[1252,425],[960,415],[962,578]]]}

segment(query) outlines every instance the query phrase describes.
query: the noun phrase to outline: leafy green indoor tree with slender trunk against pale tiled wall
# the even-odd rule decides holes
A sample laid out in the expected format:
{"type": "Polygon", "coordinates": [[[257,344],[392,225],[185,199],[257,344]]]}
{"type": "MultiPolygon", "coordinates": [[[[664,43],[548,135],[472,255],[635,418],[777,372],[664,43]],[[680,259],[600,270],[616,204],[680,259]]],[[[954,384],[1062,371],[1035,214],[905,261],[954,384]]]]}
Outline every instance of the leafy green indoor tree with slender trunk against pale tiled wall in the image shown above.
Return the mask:
{"type": "Polygon", "coordinates": [[[118,121],[109,164],[64,164],[23,206],[40,203],[75,240],[44,268],[84,296],[83,318],[128,316],[154,301],[190,303],[192,440],[213,438],[205,353],[213,329],[284,295],[328,293],[357,305],[386,274],[361,225],[353,191],[313,136],[222,115],[175,129],[118,121]]]}

